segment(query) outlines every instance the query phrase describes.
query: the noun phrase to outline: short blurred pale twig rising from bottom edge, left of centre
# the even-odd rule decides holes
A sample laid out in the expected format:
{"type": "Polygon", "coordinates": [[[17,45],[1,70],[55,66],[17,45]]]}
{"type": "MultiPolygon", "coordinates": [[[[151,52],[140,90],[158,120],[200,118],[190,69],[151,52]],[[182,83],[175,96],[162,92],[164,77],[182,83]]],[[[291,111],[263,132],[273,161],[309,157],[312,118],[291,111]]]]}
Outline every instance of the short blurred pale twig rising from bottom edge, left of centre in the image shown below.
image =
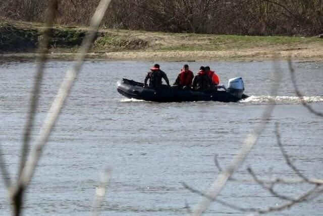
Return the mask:
{"type": "Polygon", "coordinates": [[[93,201],[93,216],[100,214],[100,206],[105,196],[106,187],[110,181],[110,169],[105,169],[102,175],[100,185],[96,188],[95,197],[93,201]]]}

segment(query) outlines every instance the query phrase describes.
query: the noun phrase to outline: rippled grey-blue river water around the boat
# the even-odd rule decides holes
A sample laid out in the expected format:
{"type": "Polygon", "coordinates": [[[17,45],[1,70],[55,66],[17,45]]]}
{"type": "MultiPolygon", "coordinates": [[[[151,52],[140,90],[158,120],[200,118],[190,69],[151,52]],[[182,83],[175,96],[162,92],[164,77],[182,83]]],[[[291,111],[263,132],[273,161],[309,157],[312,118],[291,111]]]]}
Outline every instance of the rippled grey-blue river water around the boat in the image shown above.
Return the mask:
{"type": "MultiPolygon", "coordinates": [[[[103,215],[182,215],[199,195],[181,182],[204,191],[219,174],[214,155],[228,166],[246,135],[260,121],[263,110],[277,102],[257,145],[235,174],[250,179],[247,167],[261,178],[296,177],[276,143],[274,125],[280,123],[282,142],[291,160],[309,177],[322,178],[322,119],[309,113],[295,97],[287,62],[188,62],[196,73],[210,65],[222,84],[243,77],[245,93],[239,103],[153,103],[126,99],[116,91],[123,77],[142,81],[156,62],[87,61],[51,133],[28,188],[25,215],[89,215],[101,171],[111,169],[103,215]],[[278,97],[271,95],[273,73],[279,67],[278,97]]],[[[158,62],[171,82],[187,62],[158,62]]],[[[33,140],[55,97],[70,61],[46,64],[33,140]]],[[[299,89],[317,111],[323,110],[323,63],[294,62],[299,89]]],[[[0,64],[0,144],[11,177],[17,175],[35,63],[0,64]]],[[[278,192],[297,196],[306,184],[278,185],[278,192]]],[[[8,196],[0,180],[0,214],[8,215],[8,196]]],[[[259,185],[229,182],[220,199],[242,207],[277,206],[259,185]]],[[[277,215],[323,215],[323,198],[301,203],[277,215]]],[[[212,203],[205,215],[246,213],[212,203]]]]}

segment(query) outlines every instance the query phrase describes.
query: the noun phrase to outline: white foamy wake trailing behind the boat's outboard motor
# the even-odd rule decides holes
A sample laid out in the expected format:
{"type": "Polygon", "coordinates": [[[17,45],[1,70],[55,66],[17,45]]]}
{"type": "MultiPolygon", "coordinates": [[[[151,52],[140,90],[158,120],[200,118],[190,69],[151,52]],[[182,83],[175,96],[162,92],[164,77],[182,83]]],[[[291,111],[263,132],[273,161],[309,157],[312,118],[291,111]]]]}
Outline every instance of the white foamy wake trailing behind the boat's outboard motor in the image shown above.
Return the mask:
{"type": "Polygon", "coordinates": [[[301,104],[302,102],[306,103],[317,103],[323,102],[322,96],[311,96],[311,97],[295,97],[295,96],[250,96],[244,100],[241,100],[240,103],[253,103],[253,104],[301,104]]]}

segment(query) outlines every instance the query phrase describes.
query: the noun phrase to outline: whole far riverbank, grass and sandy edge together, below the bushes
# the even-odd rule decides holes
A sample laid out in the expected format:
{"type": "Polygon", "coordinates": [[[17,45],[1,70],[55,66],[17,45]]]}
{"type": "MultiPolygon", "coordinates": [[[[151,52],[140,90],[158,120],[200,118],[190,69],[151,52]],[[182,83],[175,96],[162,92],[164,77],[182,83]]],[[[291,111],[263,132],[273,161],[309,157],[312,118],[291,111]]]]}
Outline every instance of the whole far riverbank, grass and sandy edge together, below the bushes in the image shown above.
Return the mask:
{"type": "MultiPolygon", "coordinates": [[[[41,24],[0,21],[1,56],[34,56],[41,24]]],[[[52,58],[72,58],[86,29],[56,26],[52,58]]],[[[236,36],[101,29],[89,58],[131,60],[265,60],[323,61],[318,37],[236,36]]]]}

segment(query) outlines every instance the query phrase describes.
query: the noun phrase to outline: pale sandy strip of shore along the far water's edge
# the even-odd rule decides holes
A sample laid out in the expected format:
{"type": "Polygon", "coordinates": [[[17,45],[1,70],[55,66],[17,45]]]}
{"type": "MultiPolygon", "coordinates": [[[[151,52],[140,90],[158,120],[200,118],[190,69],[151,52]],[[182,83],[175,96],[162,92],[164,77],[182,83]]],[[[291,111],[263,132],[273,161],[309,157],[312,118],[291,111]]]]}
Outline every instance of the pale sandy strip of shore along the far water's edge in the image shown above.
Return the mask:
{"type": "MultiPolygon", "coordinates": [[[[293,61],[300,62],[323,62],[323,50],[322,53],[313,51],[312,54],[301,53],[257,53],[257,52],[245,52],[239,51],[235,53],[232,51],[123,51],[123,52],[104,52],[104,53],[88,53],[87,60],[101,60],[101,61],[272,61],[281,60],[287,61],[292,59],[293,61]],[[315,56],[316,54],[316,56],[315,56]],[[211,55],[212,57],[210,57],[211,55]],[[250,57],[251,55],[257,55],[257,57],[250,57]],[[313,55],[313,56],[312,56],[313,55]]],[[[3,53],[0,54],[0,60],[35,60],[35,57],[39,57],[39,53],[3,53]]],[[[73,60],[76,53],[74,52],[52,52],[48,54],[49,60],[73,60]]]]}

